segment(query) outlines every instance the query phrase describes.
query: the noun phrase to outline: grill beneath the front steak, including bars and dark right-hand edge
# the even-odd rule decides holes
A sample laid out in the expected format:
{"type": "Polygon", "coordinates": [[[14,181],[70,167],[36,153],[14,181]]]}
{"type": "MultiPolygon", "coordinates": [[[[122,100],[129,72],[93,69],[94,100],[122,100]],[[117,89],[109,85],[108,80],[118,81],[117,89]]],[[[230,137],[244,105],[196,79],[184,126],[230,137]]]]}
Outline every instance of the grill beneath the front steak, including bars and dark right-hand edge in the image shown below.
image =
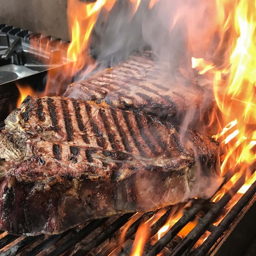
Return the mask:
{"type": "MultiPolygon", "coordinates": [[[[255,170],[256,163],[251,167],[255,170]]],[[[224,186],[235,174],[234,170],[229,170],[225,176],[222,186],[224,186]]],[[[256,224],[252,220],[256,213],[256,181],[236,202],[226,216],[215,226],[213,223],[223,211],[228,202],[236,195],[243,186],[245,174],[225,193],[216,203],[209,207],[209,200],[195,199],[190,207],[184,210],[184,215],[170,228],[170,230],[160,238],[154,245],[149,245],[145,251],[145,256],[157,255],[170,242],[174,241],[176,235],[184,228],[189,221],[198,220],[197,225],[179,243],[172,243],[172,247],[166,255],[244,255],[249,245],[256,236],[256,224]],[[199,214],[200,212],[204,212],[199,214]],[[198,217],[198,214],[200,217],[198,217]],[[204,232],[209,232],[207,239],[198,247],[194,247],[204,232]],[[244,236],[246,239],[235,242],[238,237],[244,236]]],[[[136,213],[127,213],[118,218],[102,218],[92,220],[85,226],[73,228],[58,235],[39,236],[14,236],[1,231],[0,253],[3,256],[24,255],[34,256],[40,252],[42,255],[109,255],[116,250],[117,255],[130,255],[131,246],[125,249],[123,244],[128,239],[132,239],[141,223],[150,219],[158,211],[147,212],[141,215],[131,225],[128,226],[124,237],[120,238],[120,228],[127,225],[136,213]],[[116,235],[117,234],[117,235],[116,235]]],[[[148,232],[148,239],[154,236],[168,220],[172,212],[172,207],[145,232],[148,232]]],[[[131,240],[133,241],[133,240],[131,240]]],[[[116,255],[116,254],[112,254],[116,255]]],[[[165,255],[165,254],[162,254],[165,255]]],[[[248,254],[252,255],[252,254],[248,254]]]]}

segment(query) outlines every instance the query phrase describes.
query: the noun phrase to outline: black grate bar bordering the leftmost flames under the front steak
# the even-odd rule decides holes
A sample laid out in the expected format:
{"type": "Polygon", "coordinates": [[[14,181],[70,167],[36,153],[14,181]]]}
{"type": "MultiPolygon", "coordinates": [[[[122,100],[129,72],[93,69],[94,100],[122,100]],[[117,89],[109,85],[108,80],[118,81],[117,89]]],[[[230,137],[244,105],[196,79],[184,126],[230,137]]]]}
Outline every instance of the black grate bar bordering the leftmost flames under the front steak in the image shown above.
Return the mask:
{"type": "Polygon", "coordinates": [[[91,252],[95,247],[107,240],[113,235],[119,228],[124,226],[125,223],[134,215],[134,213],[126,213],[113,222],[108,228],[101,232],[98,236],[94,237],[83,249],[76,252],[73,256],[83,256],[88,252],[91,252]]]}

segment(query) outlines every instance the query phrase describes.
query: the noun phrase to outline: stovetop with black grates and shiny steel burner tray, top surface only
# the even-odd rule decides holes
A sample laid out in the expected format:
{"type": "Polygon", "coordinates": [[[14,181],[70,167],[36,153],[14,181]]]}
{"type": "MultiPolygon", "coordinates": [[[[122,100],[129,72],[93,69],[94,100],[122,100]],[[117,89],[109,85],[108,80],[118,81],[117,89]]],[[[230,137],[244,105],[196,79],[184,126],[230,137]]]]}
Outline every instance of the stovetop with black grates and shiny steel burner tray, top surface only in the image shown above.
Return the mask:
{"type": "Polygon", "coordinates": [[[63,59],[63,63],[67,62],[63,54],[67,46],[68,42],[61,41],[60,38],[43,36],[40,33],[0,24],[0,70],[14,72],[17,75],[15,78],[10,76],[10,79],[7,77],[1,79],[0,84],[60,66],[60,64],[52,63],[52,56],[58,54],[60,59],[63,59]],[[33,50],[30,45],[31,41],[42,45],[42,49],[44,45],[47,45],[51,54],[43,50],[39,52],[33,50]]]}

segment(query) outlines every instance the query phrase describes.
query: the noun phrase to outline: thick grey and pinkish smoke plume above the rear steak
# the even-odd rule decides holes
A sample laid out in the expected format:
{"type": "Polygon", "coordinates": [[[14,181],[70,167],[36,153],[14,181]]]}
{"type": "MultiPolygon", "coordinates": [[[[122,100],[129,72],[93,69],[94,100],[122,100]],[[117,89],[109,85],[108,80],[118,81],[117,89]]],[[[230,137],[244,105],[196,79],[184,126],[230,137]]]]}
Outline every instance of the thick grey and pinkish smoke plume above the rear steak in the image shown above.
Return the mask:
{"type": "Polygon", "coordinates": [[[216,45],[215,1],[159,1],[149,9],[142,0],[133,15],[129,0],[117,1],[110,13],[101,10],[92,35],[92,54],[109,65],[132,52],[151,48],[158,60],[172,65],[189,61],[192,55],[212,54],[216,45]],[[209,28],[212,31],[209,32],[209,28]]]}

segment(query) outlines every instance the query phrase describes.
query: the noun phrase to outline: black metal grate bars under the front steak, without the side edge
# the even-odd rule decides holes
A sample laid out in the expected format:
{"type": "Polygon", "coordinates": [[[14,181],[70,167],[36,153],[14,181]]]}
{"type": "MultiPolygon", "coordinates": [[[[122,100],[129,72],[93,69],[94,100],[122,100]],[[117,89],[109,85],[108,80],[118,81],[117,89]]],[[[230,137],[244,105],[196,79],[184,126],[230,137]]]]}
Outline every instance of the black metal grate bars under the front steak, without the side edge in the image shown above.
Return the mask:
{"type": "MultiPolygon", "coordinates": [[[[254,164],[255,165],[255,164],[254,164]]],[[[255,170],[255,166],[252,166],[252,170],[255,170]]],[[[231,177],[234,175],[234,172],[230,170],[224,176],[224,182],[228,182],[231,177]]],[[[196,199],[194,200],[192,206],[184,211],[184,215],[172,226],[172,228],[161,238],[159,239],[153,246],[151,246],[148,252],[145,252],[145,256],[153,256],[157,255],[161,252],[167,244],[180,232],[182,228],[184,228],[189,221],[197,218],[197,225],[189,232],[189,234],[172,250],[172,256],[177,255],[206,255],[209,253],[209,250],[216,243],[216,241],[222,236],[223,232],[227,230],[229,225],[235,220],[236,216],[242,209],[248,204],[248,202],[252,199],[252,197],[256,193],[256,181],[251,185],[251,187],[247,190],[247,192],[237,201],[237,203],[233,206],[232,210],[230,210],[227,215],[220,221],[220,223],[215,226],[212,223],[219,216],[220,212],[223,208],[228,204],[231,198],[237,193],[237,191],[243,186],[245,180],[245,174],[241,175],[241,177],[236,181],[236,183],[226,192],[222,198],[213,205],[210,209],[208,209],[207,213],[202,217],[196,217],[205,206],[207,200],[204,199],[196,199]],[[208,230],[210,235],[208,238],[198,246],[194,251],[191,251],[191,248],[196,244],[198,239],[204,234],[204,232],[208,230]],[[190,253],[190,254],[189,254],[190,253]]],[[[223,186],[222,185],[222,186],[223,186]]],[[[172,207],[168,207],[165,213],[162,213],[162,216],[149,228],[148,237],[151,238],[154,236],[158,230],[165,224],[166,220],[172,213],[172,207]]],[[[137,218],[127,229],[124,237],[122,238],[122,243],[130,239],[137,231],[140,223],[144,223],[146,220],[149,220],[156,213],[160,213],[160,211],[152,211],[144,213],[142,216],[137,218]]],[[[63,255],[74,255],[74,256],[82,256],[88,255],[88,253],[92,252],[98,246],[101,246],[100,251],[97,252],[99,256],[106,256],[113,252],[116,248],[122,248],[122,244],[120,244],[120,238],[113,239],[113,241],[107,243],[102,246],[106,240],[111,239],[113,234],[118,231],[122,226],[124,226],[136,213],[127,213],[117,218],[114,221],[111,221],[111,218],[102,218],[98,220],[93,220],[80,230],[73,228],[59,235],[52,236],[27,236],[27,237],[19,237],[10,234],[4,235],[4,231],[0,231],[0,236],[3,236],[0,239],[0,254],[1,256],[14,256],[20,253],[19,255],[23,256],[35,256],[38,253],[44,251],[55,245],[55,248],[52,251],[48,252],[49,256],[59,256],[63,255]],[[109,222],[110,221],[110,222],[109,222]],[[77,243],[81,242],[85,237],[92,234],[97,228],[106,225],[106,223],[111,223],[108,227],[103,228],[100,233],[94,235],[91,240],[86,242],[85,245],[81,244],[76,252],[72,253],[74,250],[74,246],[77,243]],[[18,241],[16,244],[15,241],[18,241]],[[36,242],[36,243],[35,243],[36,242]],[[33,243],[35,245],[33,246],[33,243]],[[30,246],[28,250],[26,247],[30,246]],[[56,247],[57,246],[57,247],[56,247]],[[25,251],[25,249],[27,249],[25,251]],[[70,252],[70,253],[69,253],[70,252]]],[[[51,248],[50,248],[51,249],[51,248]]],[[[124,255],[124,254],[122,254],[124,255]]],[[[127,254],[128,255],[128,254],[127,254]]]]}

